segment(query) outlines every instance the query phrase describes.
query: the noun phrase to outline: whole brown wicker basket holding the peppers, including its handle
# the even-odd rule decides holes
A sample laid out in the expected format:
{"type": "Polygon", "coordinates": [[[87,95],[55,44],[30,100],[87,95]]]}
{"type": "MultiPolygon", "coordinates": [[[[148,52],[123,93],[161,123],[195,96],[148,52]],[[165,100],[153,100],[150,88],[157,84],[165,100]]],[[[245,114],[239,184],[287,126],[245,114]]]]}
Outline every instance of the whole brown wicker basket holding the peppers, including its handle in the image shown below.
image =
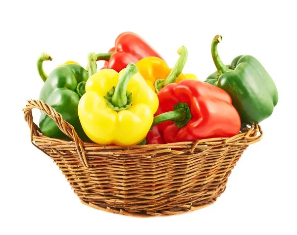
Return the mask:
{"type": "Polygon", "coordinates": [[[103,146],[82,142],[43,101],[28,100],[23,111],[32,143],[53,159],[82,203],[130,216],[174,215],[212,204],[247,146],[262,138],[255,125],[232,138],[103,146]],[[33,108],[47,113],[73,141],[44,136],[33,122],[33,108]]]}

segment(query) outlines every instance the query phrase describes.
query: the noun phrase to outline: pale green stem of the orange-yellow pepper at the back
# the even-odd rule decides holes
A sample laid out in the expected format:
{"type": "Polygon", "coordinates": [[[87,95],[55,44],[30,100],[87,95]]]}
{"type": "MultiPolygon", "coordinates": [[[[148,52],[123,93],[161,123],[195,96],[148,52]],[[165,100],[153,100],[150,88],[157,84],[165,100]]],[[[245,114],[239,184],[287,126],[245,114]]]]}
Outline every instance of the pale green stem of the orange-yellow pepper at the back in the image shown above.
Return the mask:
{"type": "Polygon", "coordinates": [[[167,78],[158,84],[159,91],[170,83],[175,83],[178,77],[180,76],[181,72],[183,71],[185,64],[188,59],[188,50],[186,47],[182,46],[177,50],[177,53],[180,55],[178,60],[176,61],[173,69],[171,70],[170,74],[167,78]]]}

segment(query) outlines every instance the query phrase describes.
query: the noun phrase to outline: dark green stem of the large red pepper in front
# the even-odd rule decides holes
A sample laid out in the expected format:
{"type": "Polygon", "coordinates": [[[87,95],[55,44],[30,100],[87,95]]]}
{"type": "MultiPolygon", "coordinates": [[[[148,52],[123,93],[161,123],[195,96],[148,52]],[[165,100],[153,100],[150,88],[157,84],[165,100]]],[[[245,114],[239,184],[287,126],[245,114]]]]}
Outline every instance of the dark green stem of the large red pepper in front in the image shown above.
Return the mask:
{"type": "Polygon", "coordinates": [[[174,105],[174,110],[166,113],[159,114],[154,117],[150,130],[155,126],[162,122],[174,121],[174,124],[181,128],[186,126],[187,123],[192,118],[191,110],[187,103],[179,102],[174,105]]]}

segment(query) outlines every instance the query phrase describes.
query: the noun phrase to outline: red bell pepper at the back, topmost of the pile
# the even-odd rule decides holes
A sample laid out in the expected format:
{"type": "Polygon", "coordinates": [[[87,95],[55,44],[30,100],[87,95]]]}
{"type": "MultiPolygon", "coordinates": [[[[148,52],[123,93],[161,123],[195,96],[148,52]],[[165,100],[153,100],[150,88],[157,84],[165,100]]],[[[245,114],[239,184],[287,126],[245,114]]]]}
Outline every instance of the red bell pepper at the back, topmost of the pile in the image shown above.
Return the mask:
{"type": "MultiPolygon", "coordinates": [[[[108,53],[97,54],[98,60],[105,60],[103,68],[114,69],[120,72],[129,63],[137,63],[139,60],[155,56],[164,60],[161,55],[153,49],[139,35],[132,32],[121,33],[115,40],[115,47],[108,53]]],[[[103,69],[101,68],[101,69],[103,69]]]]}

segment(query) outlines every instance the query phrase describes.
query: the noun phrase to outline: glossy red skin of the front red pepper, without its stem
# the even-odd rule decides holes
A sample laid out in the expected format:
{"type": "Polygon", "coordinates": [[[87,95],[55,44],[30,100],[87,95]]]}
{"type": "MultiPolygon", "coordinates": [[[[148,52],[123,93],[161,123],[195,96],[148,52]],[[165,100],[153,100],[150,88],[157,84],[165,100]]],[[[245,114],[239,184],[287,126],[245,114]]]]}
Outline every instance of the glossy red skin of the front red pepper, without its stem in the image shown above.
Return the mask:
{"type": "Polygon", "coordinates": [[[232,137],[239,134],[240,116],[224,90],[198,80],[168,84],[159,93],[159,108],[154,116],[173,111],[173,105],[188,103],[192,118],[181,128],[173,121],[157,126],[163,131],[166,143],[232,137]]]}

